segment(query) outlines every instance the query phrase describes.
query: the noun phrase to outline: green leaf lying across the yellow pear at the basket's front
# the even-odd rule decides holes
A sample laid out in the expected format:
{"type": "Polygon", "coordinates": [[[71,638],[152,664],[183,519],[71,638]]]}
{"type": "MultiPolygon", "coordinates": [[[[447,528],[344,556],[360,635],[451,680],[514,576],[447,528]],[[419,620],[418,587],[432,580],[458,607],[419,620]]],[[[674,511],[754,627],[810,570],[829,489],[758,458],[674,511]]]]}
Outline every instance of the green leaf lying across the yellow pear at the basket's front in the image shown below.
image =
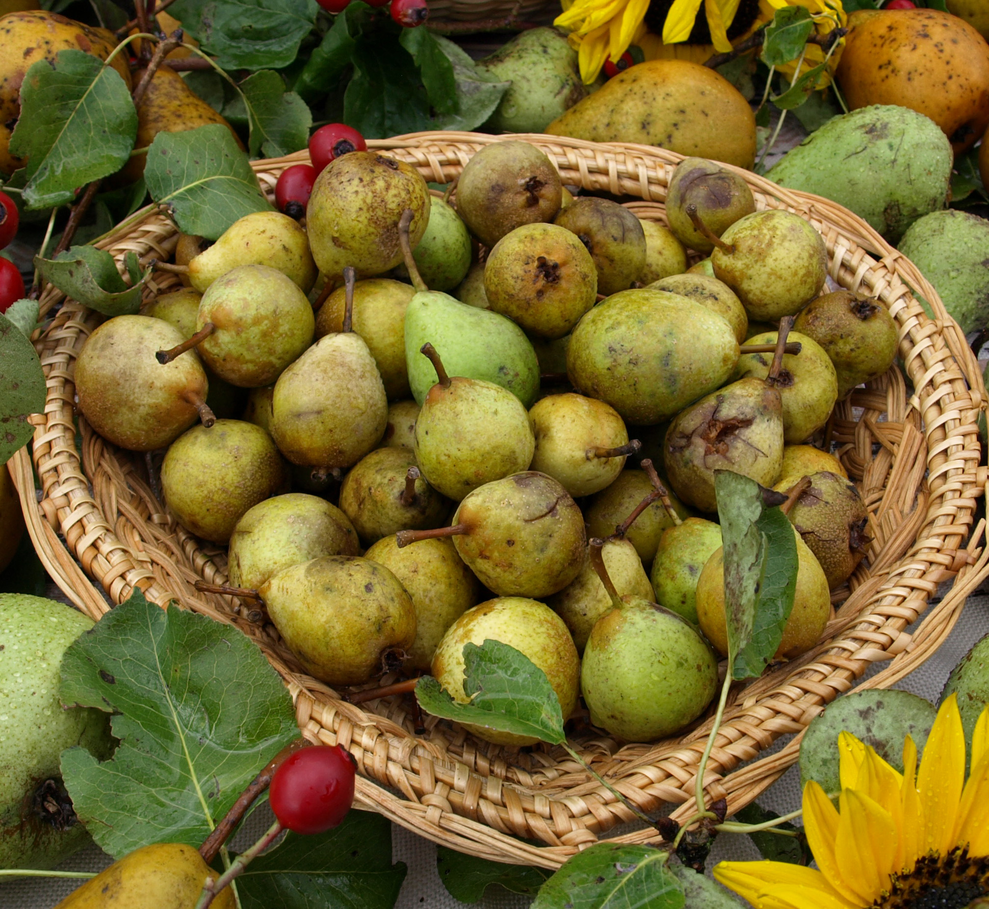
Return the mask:
{"type": "Polygon", "coordinates": [[[549,679],[524,653],[488,639],[464,644],[464,694],[455,702],[432,676],[423,676],[415,697],[427,713],[500,732],[533,736],[559,745],[566,741],[560,699],[549,679]]]}

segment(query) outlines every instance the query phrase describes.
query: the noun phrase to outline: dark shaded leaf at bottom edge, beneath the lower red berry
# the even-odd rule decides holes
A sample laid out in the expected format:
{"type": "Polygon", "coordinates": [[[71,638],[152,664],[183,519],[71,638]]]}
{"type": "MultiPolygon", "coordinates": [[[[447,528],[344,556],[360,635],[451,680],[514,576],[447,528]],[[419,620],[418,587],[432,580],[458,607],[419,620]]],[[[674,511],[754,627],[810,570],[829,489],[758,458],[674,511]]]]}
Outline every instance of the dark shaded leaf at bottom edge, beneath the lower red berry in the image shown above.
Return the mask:
{"type": "Polygon", "coordinates": [[[352,808],[316,836],[289,833],[237,878],[243,909],[392,909],[405,864],[392,864],[392,824],[352,808]]]}

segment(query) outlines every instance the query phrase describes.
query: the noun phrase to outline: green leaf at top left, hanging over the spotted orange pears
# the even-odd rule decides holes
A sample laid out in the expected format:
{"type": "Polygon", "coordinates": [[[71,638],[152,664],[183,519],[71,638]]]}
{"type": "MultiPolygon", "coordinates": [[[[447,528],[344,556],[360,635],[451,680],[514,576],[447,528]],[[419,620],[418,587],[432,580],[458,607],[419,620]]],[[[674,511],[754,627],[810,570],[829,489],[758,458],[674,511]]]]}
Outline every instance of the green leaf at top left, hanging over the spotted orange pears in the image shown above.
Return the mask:
{"type": "Polygon", "coordinates": [[[28,159],[29,208],[72,202],[75,191],[124,166],[137,113],[120,73],[99,57],[62,50],[33,64],[21,85],[21,117],[10,140],[28,159]]]}

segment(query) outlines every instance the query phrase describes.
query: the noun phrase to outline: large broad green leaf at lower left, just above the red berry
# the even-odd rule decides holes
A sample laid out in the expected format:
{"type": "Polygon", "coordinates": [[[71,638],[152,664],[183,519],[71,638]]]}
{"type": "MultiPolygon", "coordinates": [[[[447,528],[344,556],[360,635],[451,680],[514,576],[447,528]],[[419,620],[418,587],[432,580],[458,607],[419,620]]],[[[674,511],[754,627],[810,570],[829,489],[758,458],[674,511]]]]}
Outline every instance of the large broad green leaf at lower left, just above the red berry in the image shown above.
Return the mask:
{"type": "Polygon", "coordinates": [[[198,846],[299,736],[288,691],[249,638],[139,590],[69,647],[61,677],[62,702],[114,714],[114,757],[69,748],[61,770],[79,818],[116,858],[198,846]]]}

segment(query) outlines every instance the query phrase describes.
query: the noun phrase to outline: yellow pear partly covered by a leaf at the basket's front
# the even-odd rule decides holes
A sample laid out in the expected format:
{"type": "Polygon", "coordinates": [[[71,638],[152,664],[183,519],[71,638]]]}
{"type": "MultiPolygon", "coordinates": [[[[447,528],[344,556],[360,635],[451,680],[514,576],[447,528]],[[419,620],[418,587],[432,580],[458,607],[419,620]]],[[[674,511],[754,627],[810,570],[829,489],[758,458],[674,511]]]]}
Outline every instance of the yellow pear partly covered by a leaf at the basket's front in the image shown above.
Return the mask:
{"type": "MultiPolygon", "coordinates": [[[[496,640],[525,654],[549,680],[564,719],[577,706],[581,661],[570,632],[553,610],[524,597],[499,597],[468,610],[443,635],[432,674],[454,701],[464,694],[464,645],[496,640]]],[[[499,745],[534,745],[538,739],[466,724],[475,735],[499,745]]]]}

